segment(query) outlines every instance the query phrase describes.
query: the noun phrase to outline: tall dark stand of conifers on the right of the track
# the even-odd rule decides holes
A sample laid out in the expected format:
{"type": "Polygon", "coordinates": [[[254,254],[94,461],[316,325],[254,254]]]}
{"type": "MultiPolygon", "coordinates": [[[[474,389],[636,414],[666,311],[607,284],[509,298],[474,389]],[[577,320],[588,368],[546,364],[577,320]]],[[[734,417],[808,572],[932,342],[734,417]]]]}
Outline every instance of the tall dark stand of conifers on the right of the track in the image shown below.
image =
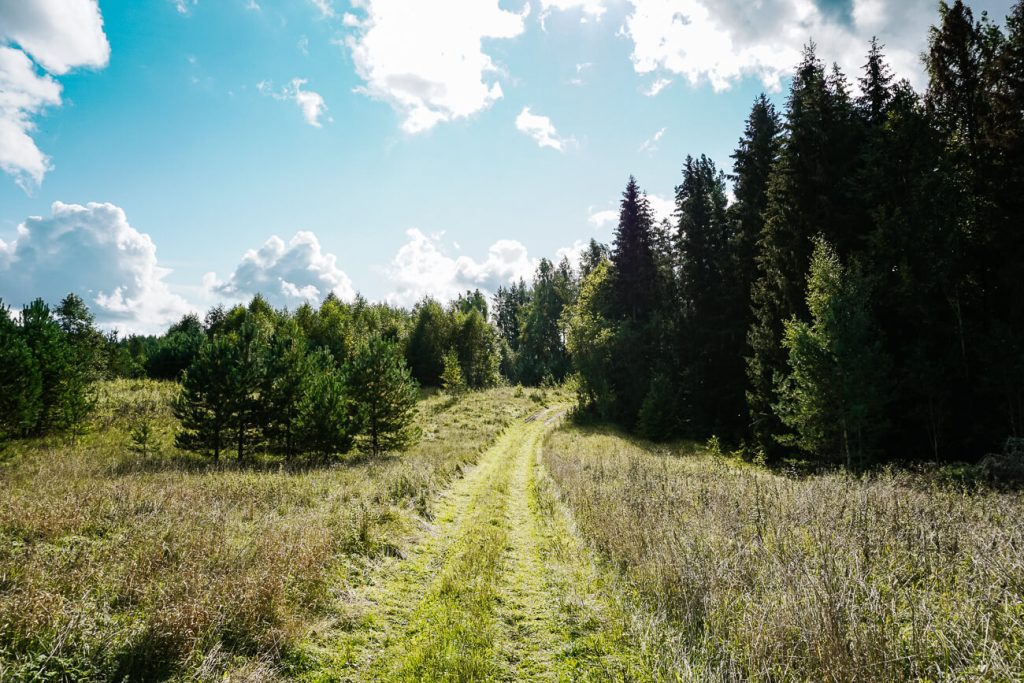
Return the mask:
{"type": "Polygon", "coordinates": [[[857,83],[809,45],[757,99],[735,201],[687,158],[673,221],[630,178],[566,316],[581,403],[655,437],[862,464],[1024,430],[1024,3],[942,3],[924,95],[872,41],[857,83]]]}

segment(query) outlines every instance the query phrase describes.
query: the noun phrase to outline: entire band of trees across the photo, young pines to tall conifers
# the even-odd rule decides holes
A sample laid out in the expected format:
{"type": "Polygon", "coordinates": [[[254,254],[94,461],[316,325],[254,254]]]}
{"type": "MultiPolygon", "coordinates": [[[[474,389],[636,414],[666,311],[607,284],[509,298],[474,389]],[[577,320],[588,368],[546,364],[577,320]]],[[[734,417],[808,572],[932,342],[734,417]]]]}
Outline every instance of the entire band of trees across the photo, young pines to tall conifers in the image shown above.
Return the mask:
{"type": "Polygon", "coordinates": [[[1004,31],[942,5],[925,58],[921,94],[877,41],[852,83],[807,45],[784,111],[754,102],[731,175],[687,157],[662,222],[631,176],[610,246],[542,259],[489,302],[332,295],[278,311],[257,296],[118,338],[76,295],[52,311],[35,301],[0,316],[0,433],[74,433],[90,380],[150,377],[181,381],[179,443],[214,458],[228,442],[239,459],[379,453],[413,436],[414,382],[569,382],[580,419],[714,437],[751,460],[1015,451],[1024,8],[1004,31]]]}

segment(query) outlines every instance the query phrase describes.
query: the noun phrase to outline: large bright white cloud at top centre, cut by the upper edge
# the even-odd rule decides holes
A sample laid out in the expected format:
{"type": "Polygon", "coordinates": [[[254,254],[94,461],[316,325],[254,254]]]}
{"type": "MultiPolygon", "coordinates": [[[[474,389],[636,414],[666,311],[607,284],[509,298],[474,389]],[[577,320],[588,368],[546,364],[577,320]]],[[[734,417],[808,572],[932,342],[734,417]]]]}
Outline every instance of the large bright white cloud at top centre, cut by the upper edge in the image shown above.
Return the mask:
{"type": "Polygon", "coordinates": [[[343,17],[354,29],[345,42],[366,82],[356,90],[389,103],[411,134],[468,118],[502,97],[494,78],[500,70],[481,42],[520,35],[529,12],[528,3],[515,13],[502,9],[499,0],[352,4],[365,13],[343,17]]]}

